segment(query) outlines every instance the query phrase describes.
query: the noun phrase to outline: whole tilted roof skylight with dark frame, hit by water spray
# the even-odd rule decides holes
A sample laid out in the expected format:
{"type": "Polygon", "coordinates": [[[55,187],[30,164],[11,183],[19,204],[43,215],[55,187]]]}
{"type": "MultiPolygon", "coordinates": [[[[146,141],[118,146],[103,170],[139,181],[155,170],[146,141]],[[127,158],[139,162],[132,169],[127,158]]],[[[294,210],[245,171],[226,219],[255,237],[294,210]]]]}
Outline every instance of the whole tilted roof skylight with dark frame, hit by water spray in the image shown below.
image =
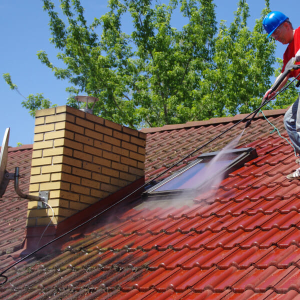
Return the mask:
{"type": "Polygon", "coordinates": [[[146,193],[165,194],[166,192],[198,189],[216,176],[227,176],[255,157],[257,154],[254,148],[204,153],[186,167],[150,187],[146,193]]]}

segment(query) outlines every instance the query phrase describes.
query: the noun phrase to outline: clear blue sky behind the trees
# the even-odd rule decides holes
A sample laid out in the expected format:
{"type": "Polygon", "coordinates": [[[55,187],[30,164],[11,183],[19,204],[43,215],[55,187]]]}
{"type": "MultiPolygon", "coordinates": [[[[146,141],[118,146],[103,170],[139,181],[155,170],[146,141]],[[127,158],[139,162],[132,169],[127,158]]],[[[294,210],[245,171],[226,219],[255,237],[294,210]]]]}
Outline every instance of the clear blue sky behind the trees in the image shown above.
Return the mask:
{"type": "MultiPolygon", "coordinates": [[[[52,0],[58,3],[58,0],[52,0]]],[[[162,0],[163,1],[163,0],[162,0]]],[[[233,19],[238,0],[214,0],[217,21],[226,20],[227,25],[233,19]]],[[[248,0],[250,17],[248,26],[253,28],[255,19],[259,18],[264,7],[263,0],[248,0]]],[[[270,0],[271,10],[279,10],[289,16],[294,28],[298,21],[298,0],[270,0]]],[[[81,0],[88,21],[99,17],[107,11],[106,0],[81,0]]],[[[48,17],[42,10],[41,0],[0,0],[0,143],[6,127],[10,127],[9,145],[17,142],[31,144],[33,142],[34,118],[28,110],[21,106],[22,97],[13,90],[2,78],[9,72],[12,81],[17,84],[20,92],[27,96],[32,93],[43,93],[44,97],[58,105],[66,103],[67,82],[57,80],[51,71],[38,60],[36,52],[45,50],[50,60],[54,60],[56,51],[49,43],[48,17]]],[[[277,44],[276,55],[281,57],[285,46],[277,44]]],[[[55,61],[55,60],[54,60],[55,61]]]]}

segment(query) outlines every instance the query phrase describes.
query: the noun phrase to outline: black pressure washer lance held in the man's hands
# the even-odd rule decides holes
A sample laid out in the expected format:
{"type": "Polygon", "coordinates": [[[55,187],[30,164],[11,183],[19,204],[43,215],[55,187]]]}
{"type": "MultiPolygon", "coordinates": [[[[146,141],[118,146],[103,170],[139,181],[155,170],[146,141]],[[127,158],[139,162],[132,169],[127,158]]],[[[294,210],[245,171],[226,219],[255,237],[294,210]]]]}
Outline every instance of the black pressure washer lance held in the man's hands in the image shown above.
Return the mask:
{"type": "MultiPolygon", "coordinates": [[[[276,89],[278,88],[278,86],[280,85],[280,83],[283,81],[283,79],[286,77],[286,75],[292,71],[292,70],[296,70],[300,68],[300,64],[295,64],[295,57],[292,57],[288,60],[288,62],[285,65],[284,71],[279,75],[279,77],[277,78],[277,80],[275,81],[275,83],[272,85],[271,90],[272,91],[276,91],[276,89]]],[[[294,80],[296,78],[298,78],[298,76],[300,75],[300,73],[294,78],[294,80]]],[[[291,82],[290,82],[291,83],[291,82]]],[[[300,85],[300,80],[297,82],[296,87],[298,87],[300,85]]],[[[287,85],[288,86],[288,85],[287,85]]],[[[286,86],[286,87],[287,87],[286,86]]],[[[285,87],[285,88],[286,88],[285,87]]],[[[284,89],[285,89],[284,88],[284,89]]],[[[262,106],[264,106],[265,104],[267,104],[269,101],[271,101],[272,99],[274,99],[281,91],[283,91],[284,89],[281,89],[278,93],[276,93],[273,97],[271,97],[268,100],[264,100],[262,99],[261,104],[259,105],[258,108],[256,108],[253,111],[253,115],[252,117],[246,122],[245,128],[247,128],[251,121],[253,120],[253,118],[255,117],[255,115],[257,114],[257,112],[261,109],[262,106]]]]}

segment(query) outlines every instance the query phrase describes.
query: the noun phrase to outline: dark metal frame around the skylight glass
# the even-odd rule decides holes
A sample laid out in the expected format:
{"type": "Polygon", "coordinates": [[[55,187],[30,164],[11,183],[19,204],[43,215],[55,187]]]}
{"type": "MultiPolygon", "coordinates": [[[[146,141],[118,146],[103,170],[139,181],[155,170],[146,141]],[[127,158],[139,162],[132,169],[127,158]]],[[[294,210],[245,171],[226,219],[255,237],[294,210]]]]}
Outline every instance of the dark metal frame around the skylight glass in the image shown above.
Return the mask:
{"type": "MultiPolygon", "coordinates": [[[[143,193],[143,195],[144,196],[153,196],[153,195],[155,195],[155,196],[157,196],[157,195],[167,196],[167,195],[171,195],[171,194],[182,193],[183,191],[184,192],[193,192],[193,191],[199,189],[201,186],[203,186],[203,184],[205,184],[205,182],[203,184],[200,184],[196,188],[168,189],[168,190],[155,191],[160,186],[162,186],[162,185],[166,184],[167,182],[171,181],[173,178],[179,176],[180,174],[182,174],[186,170],[190,169],[191,167],[193,167],[197,163],[201,163],[201,161],[207,161],[207,160],[210,161],[218,153],[219,153],[219,151],[215,151],[215,152],[208,152],[208,153],[203,153],[203,154],[199,155],[195,160],[188,163],[188,165],[186,165],[182,169],[174,172],[173,174],[171,174],[167,178],[161,180],[160,182],[156,183],[154,186],[151,186],[150,188],[148,188],[143,193]]],[[[245,162],[247,162],[249,160],[252,160],[252,159],[257,157],[256,149],[252,148],[252,147],[230,149],[230,150],[225,151],[224,153],[237,155],[228,164],[226,164],[225,166],[223,166],[220,169],[220,172],[224,173],[224,176],[228,176],[228,174],[230,172],[232,172],[233,170],[236,170],[236,169],[242,167],[245,162]]]]}

